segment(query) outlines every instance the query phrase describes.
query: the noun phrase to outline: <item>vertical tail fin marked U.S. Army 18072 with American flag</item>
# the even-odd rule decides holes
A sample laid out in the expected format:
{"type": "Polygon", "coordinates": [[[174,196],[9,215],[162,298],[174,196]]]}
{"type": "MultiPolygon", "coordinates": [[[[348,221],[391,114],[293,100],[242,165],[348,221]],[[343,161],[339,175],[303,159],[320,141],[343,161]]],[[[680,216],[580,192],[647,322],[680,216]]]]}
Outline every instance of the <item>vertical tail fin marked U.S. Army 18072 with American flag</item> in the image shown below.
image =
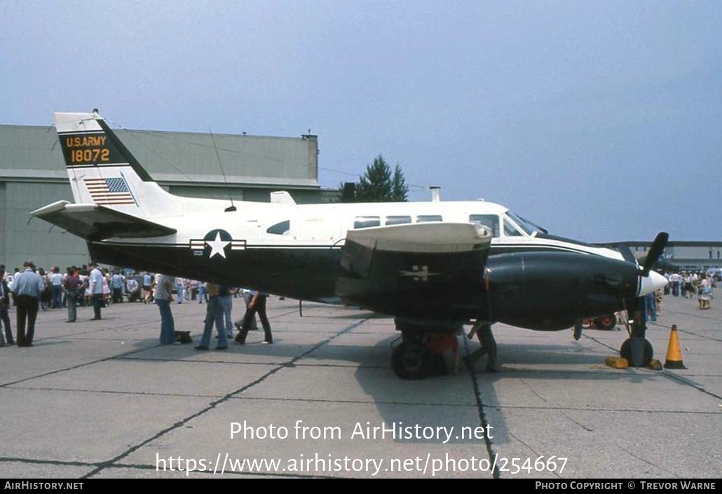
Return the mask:
{"type": "Polygon", "coordinates": [[[153,217],[168,212],[169,202],[175,202],[97,111],[56,113],[55,126],[76,203],[153,217]]]}

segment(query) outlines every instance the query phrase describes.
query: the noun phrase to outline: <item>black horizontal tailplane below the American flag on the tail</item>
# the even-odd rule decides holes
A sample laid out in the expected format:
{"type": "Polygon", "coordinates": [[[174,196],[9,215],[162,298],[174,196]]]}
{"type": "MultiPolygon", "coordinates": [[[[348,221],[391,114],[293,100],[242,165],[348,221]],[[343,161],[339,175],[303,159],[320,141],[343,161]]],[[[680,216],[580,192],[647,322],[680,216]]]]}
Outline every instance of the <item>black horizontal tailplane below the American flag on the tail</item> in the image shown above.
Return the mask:
{"type": "Polygon", "coordinates": [[[87,241],[170,235],[176,230],[97,204],[53,202],[31,215],[68,230],[87,241]]]}

